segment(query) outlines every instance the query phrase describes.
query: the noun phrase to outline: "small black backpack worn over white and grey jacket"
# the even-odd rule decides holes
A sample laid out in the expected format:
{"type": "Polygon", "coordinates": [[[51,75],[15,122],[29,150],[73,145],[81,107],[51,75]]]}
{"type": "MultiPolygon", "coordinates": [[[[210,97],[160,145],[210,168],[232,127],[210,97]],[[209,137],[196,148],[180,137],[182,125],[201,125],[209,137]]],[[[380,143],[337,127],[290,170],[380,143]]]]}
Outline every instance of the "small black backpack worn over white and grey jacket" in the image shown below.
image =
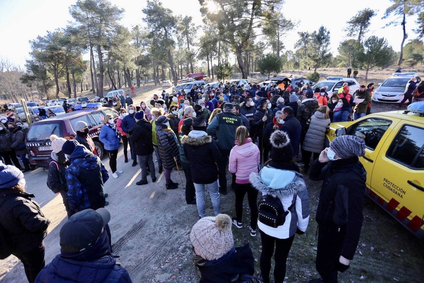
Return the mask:
{"type": "Polygon", "coordinates": [[[283,204],[278,198],[270,195],[262,197],[258,205],[258,220],[263,224],[276,228],[286,221],[286,216],[293,208],[296,202],[285,211],[283,204]]]}

